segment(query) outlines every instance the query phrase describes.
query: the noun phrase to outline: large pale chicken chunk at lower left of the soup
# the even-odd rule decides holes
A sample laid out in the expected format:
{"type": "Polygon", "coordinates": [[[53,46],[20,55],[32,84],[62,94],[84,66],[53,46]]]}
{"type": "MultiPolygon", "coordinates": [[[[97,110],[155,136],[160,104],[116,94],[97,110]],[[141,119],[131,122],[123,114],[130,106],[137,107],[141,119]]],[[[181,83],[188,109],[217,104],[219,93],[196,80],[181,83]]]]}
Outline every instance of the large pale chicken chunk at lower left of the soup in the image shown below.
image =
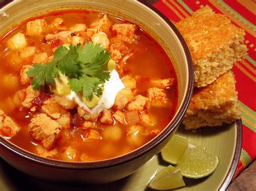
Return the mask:
{"type": "Polygon", "coordinates": [[[30,135],[37,140],[46,150],[55,146],[62,132],[62,127],[46,114],[33,116],[29,124],[30,135]]]}

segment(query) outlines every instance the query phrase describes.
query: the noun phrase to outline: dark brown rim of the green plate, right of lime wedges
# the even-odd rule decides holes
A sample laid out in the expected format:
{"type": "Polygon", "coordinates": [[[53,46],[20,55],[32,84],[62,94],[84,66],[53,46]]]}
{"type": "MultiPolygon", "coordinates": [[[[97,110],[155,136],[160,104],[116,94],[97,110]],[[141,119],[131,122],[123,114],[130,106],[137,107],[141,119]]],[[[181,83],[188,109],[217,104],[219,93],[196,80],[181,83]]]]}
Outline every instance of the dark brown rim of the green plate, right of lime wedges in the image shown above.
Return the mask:
{"type": "Polygon", "coordinates": [[[236,122],[237,125],[237,139],[235,141],[235,150],[233,159],[230,165],[230,168],[228,169],[227,175],[225,176],[223,182],[219,186],[218,190],[226,190],[227,187],[230,185],[230,182],[233,179],[235,170],[237,169],[241,150],[242,150],[242,119],[238,119],[236,122]]]}

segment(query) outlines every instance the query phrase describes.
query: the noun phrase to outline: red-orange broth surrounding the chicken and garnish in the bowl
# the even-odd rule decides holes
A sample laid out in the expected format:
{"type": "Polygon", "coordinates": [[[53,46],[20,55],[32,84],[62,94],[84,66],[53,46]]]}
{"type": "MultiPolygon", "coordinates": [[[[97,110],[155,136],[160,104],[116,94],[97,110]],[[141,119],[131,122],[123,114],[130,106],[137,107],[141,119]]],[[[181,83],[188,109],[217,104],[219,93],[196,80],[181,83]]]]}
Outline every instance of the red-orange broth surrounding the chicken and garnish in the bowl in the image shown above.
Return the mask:
{"type": "MultiPolygon", "coordinates": [[[[32,117],[43,113],[43,111],[40,107],[36,109],[21,107],[21,103],[17,103],[15,100],[18,90],[24,93],[25,89],[30,86],[30,82],[21,84],[20,71],[22,67],[32,65],[33,59],[39,53],[46,52],[48,57],[53,55],[55,46],[52,45],[52,41],[45,41],[46,34],[69,31],[70,27],[82,23],[86,25],[87,29],[82,32],[74,32],[71,36],[83,38],[83,44],[86,41],[91,41],[90,35],[87,35],[86,32],[93,23],[103,18],[103,15],[103,13],[73,10],[54,12],[29,19],[30,21],[44,19],[48,25],[56,18],[63,19],[63,22],[55,29],[43,33],[40,37],[26,35],[26,23],[29,20],[16,27],[15,30],[10,31],[8,35],[4,34],[0,41],[0,108],[16,122],[20,130],[15,136],[10,136],[11,138],[5,135],[3,131],[0,131],[0,135],[2,132],[2,135],[12,143],[43,157],[66,161],[96,161],[129,153],[149,142],[166,127],[176,111],[178,100],[177,77],[169,57],[149,34],[137,26],[131,42],[127,43],[127,41],[122,40],[122,37],[119,38],[118,34],[112,30],[112,26],[130,23],[107,15],[110,27],[109,29],[99,29],[99,32],[105,32],[110,40],[110,45],[106,49],[112,55],[113,49],[117,49],[121,53],[122,58],[116,59],[119,67],[117,71],[120,78],[130,76],[136,81],[136,88],[131,89],[131,91],[134,96],[141,95],[146,98],[143,110],[137,108],[129,110],[126,105],[124,109],[119,110],[124,116],[124,122],[120,123],[113,116],[114,112],[118,110],[114,105],[109,109],[113,122],[106,124],[100,122],[100,115],[97,121],[96,119],[86,120],[79,116],[77,107],[72,110],[66,109],[65,112],[70,114],[69,128],[62,128],[60,136],[51,148],[42,146],[41,140],[35,139],[29,133],[29,124],[32,117]],[[25,34],[26,46],[35,47],[35,54],[24,59],[20,56],[19,51],[21,49],[11,50],[8,47],[8,40],[17,32],[25,34]],[[128,57],[128,55],[130,55],[129,58],[125,60],[125,56],[128,57]],[[157,80],[166,79],[171,79],[172,83],[159,88],[161,81],[157,80]],[[153,94],[156,95],[150,97],[148,92],[150,88],[153,94]],[[158,99],[158,93],[154,90],[164,93],[165,100],[163,101],[163,97],[160,97],[160,101],[154,100],[158,99]],[[160,105],[158,105],[159,102],[160,105]],[[144,121],[143,117],[145,117],[144,121]],[[85,121],[89,125],[84,125],[85,121]]],[[[97,33],[97,31],[94,33],[97,33]]],[[[24,101],[24,97],[21,98],[22,101],[24,101]]],[[[134,101],[134,98],[132,101],[134,101]]],[[[54,108],[55,105],[50,105],[50,107],[54,108]]],[[[1,127],[0,123],[0,130],[1,128],[3,126],[1,127]]]]}

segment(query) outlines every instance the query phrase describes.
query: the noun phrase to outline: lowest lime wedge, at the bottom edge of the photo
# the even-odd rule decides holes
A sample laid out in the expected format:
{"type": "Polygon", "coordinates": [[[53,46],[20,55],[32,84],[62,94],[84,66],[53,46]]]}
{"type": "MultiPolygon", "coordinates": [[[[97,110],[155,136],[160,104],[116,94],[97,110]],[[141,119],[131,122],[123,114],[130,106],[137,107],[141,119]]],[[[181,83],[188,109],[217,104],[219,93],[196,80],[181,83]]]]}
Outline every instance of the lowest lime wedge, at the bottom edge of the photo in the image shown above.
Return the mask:
{"type": "Polygon", "coordinates": [[[160,171],[149,183],[149,188],[155,190],[167,190],[185,186],[180,169],[167,166],[160,171]]]}

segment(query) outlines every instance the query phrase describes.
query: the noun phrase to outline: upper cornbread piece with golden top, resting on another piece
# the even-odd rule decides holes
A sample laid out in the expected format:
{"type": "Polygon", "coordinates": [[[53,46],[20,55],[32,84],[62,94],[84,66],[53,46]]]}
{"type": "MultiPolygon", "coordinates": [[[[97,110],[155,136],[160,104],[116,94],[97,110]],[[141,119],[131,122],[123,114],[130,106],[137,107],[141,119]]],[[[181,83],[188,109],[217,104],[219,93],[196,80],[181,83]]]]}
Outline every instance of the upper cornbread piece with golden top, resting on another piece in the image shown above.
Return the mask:
{"type": "Polygon", "coordinates": [[[209,6],[176,24],[184,37],[194,65],[196,87],[212,83],[246,55],[245,31],[231,24],[209,6]]]}

